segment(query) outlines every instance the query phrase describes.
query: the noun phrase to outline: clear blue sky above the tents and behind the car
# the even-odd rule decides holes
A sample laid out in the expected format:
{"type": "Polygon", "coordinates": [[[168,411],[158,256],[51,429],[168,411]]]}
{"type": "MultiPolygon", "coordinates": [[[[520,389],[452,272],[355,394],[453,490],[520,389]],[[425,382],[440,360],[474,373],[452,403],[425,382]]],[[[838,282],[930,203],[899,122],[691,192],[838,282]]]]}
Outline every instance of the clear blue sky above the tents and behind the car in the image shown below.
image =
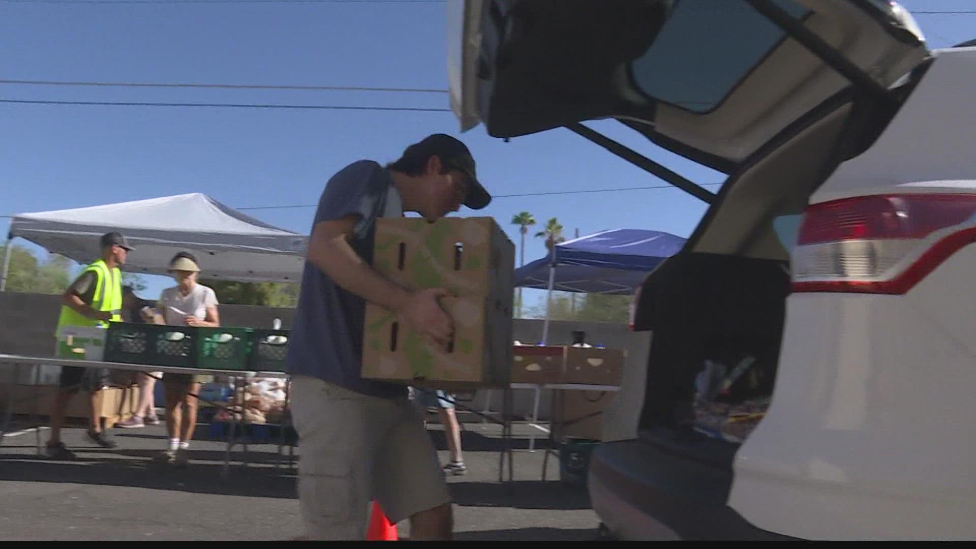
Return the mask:
{"type": "MultiPolygon", "coordinates": [[[[974,9],[911,0],[910,11],[974,9]]],[[[920,14],[933,47],[976,36],[976,15],[920,14]]],[[[446,89],[445,6],[436,2],[38,3],[0,0],[0,79],[446,89]]],[[[0,99],[447,106],[446,94],[130,89],[0,84],[0,99]]],[[[312,204],[348,162],[395,159],[427,134],[461,137],[494,194],[661,184],[566,130],[504,143],[449,112],[0,103],[0,215],[205,192],[234,207],[312,204]]],[[[594,123],[699,183],[718,174],[614,122],[594,123]]],[[[715,188],[712,188],[715,189],[715,188]]],[[[705,211],[680,190],[497,198],[483,214],[557,217],[571,236],[613,228],[688,235],[705,211]]],[[[307,232],[312,208],[249,212],[307,232]]],[[[467,215],[463,212],[463,215],[467,215]]],[[[0,219],[6,232],[9,220],[0,219]]],[[[192,220],[173,220],[175,226],[192,220]]],[[[22,241],[21,241],[22,242],[22,241]]],[[[542,256],[530,239],[526,260],[542,256]]],[[[205,267],[205,266],[204,266],[205,267]]],[[[147,296],[168,284],[153,279],[147,296]]]]}

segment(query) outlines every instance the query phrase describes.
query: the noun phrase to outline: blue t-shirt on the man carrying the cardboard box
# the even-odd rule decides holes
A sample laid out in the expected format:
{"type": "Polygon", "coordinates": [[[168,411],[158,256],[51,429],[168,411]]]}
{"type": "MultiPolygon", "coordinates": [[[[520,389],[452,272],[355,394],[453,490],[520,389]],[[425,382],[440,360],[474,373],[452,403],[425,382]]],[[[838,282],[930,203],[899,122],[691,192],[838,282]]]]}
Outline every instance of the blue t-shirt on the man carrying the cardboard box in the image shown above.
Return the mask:
{"type": "MultiPolygon", "coordinates": [[[[389,171],[371,160],[353,162],[334,175],[318,201],[314,228],[320,222],[359,214],[349,245],[367,264],[373,262],[376,220],[400,216],[399,194],[389,171]]],[[[317,377],[373,397],[402,397],[402,385],[363,379],[363,322],[366,302],[339,287],[332,278],[305,262],[302,293],[288,343],[287,371],[317,377]]]]}

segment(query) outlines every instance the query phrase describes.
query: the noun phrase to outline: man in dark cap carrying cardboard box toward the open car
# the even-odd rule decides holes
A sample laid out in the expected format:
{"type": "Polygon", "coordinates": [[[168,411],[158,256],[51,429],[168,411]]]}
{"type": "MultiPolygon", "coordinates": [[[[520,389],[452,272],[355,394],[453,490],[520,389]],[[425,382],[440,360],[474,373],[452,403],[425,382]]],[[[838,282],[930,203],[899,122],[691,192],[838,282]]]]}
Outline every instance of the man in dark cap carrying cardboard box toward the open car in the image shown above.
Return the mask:
{"type": "Polygon", "coordinates": [[[308,538],[365,539],[373,500],[394,524],[410,518],[412,539],[451,538],[444,472],[407,388],[360,376],[363,322],[370,302],[446,349],[454,327],[437,300],[447,292],[408,292],[373,271],[375,221],[404,211],[434,221],[490,201],[468,148],[443,134],[386,167],[354,162],[322,192],[287,365],[308,538]]]}

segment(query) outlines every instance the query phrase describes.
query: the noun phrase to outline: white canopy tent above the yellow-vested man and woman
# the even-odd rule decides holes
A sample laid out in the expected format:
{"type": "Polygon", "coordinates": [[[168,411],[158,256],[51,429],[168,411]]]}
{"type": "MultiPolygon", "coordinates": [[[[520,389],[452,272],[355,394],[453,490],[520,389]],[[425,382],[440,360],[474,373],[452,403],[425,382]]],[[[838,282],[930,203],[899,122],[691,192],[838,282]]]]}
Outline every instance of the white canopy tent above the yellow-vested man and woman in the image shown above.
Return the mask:
{"type": "MultiPolygon", "coordinates": [[[[200,260],[201,278],[249,282],[301,281],[308,240],[194,192],[20,214],[11,221],[8,242],[20,236],[86,264],[100,255],[99,237],[112,231],[136,248],[126,272],[166,274],[170,259],[185,250],[200,260]]],[[[6,289],[10,251],[8,245],[0,290],[6,289]]]]}

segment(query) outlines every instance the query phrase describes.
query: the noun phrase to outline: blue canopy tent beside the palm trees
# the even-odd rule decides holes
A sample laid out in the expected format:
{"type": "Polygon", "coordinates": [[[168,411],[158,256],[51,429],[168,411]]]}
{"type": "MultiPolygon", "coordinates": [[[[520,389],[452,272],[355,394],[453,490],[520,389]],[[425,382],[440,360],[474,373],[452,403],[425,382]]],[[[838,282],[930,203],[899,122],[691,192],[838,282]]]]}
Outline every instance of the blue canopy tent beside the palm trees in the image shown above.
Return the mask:
{"type": "Polygon", "coordinates": [[[670,232],[614,229],[568,240],[545,257],[515,270],[514,285],[549,290],[543,342],[549,338],[549,304],[555,290],[633,295],[648,273],[684,247],[670,232]]]}

